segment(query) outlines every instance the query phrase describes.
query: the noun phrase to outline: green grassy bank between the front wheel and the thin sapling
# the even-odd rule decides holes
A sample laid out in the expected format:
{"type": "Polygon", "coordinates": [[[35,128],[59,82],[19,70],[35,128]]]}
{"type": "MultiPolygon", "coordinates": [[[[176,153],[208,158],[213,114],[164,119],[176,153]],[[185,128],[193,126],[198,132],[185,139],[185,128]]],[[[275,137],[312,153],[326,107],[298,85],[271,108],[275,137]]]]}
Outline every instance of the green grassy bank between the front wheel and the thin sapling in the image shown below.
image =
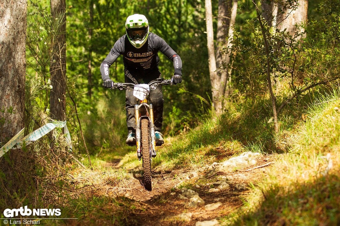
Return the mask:
{"type": "MultiPolygon", "coordinates": [[[[194,169],[213,162],[221,162],[244,151],[283,153],[286,147],[273,134],[271,114],[266,99],[253,105],[235,105],[217,120],[206,120],[186,136],[171,138],[171,145],[160,149],[154,166],[167,169],[186,167],[194,169]]],[[[284,119],[283,119],[284,120],[284,119]]],[[[283,130],[291,130],[291,124],[300,121],[291,119],[283,130]]]]}

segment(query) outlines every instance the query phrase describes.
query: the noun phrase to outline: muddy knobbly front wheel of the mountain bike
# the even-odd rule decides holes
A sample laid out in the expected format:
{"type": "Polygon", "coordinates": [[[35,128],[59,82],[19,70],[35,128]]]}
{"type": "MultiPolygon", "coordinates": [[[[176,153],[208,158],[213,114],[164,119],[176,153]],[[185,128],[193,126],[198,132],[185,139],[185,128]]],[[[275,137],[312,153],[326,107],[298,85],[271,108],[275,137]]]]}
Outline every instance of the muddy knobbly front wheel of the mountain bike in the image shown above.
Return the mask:
{"type": "Polygon", "coordinates": [[[145,189],[151,191],[151,155],[150,155],[150,136],[149,136],[149,120],[141,120],[141,151],[143,158],[143,177],[145,189]]]}

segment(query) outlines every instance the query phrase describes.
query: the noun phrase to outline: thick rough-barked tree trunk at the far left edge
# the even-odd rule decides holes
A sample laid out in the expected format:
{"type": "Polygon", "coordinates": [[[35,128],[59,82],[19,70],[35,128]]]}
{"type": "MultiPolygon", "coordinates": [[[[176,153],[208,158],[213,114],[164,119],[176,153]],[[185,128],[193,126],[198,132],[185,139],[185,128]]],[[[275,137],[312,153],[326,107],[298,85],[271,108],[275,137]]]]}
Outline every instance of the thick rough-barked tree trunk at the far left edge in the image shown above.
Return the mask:
{"type": "Polygon", "coordinates": [[[0,147],[24,127],[27,0],[0,10],[0,147]]]}

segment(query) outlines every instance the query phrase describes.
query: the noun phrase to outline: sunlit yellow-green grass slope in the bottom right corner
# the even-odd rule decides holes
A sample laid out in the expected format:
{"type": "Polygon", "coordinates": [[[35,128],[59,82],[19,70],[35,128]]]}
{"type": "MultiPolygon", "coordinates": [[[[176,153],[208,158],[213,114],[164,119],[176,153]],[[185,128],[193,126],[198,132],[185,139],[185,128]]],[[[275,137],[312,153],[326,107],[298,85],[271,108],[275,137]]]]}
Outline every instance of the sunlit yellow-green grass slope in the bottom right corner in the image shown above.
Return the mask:
{"type": "Polygon", "coordinates": [[[310,107],[306,123],[286,138],[289,152],[278,157],[270,177],[244,197],[246,205],[238,213],[221,221],[225,225],[339,225],[339,108],[337,94],[310,107]]]}

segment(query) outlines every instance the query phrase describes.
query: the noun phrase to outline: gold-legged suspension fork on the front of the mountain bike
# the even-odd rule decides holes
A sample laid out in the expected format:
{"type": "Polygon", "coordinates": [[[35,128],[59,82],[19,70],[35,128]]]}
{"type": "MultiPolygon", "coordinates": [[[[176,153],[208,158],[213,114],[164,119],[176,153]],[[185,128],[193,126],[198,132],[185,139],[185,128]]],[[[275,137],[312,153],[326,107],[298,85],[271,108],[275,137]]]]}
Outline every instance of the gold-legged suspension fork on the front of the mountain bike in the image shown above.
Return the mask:
{"type": "Polygon", "coordinates": [[[149,119],[149,138],[150,138],[150,145],[149,145],[149,150],[151,157],[156,157],[156,137],[155,137],[155,125],[154,125],[154,116],[153,116],[153,105],[150,104],[148,105],[145,102],[142,102],[140,105],[136,104],[135,105],[135,118],[136,118],[136,147],[137,147],[137,158],[138,160],[141,159],[142,153],[141,153],[141,128],[140,128],[140,120],[142,118],[147,117],[149,119]],[[147,105],[149,108],[149,116],[145,114],[144,116],[139,115],[139,108],[142,105],[147,105]]]}

